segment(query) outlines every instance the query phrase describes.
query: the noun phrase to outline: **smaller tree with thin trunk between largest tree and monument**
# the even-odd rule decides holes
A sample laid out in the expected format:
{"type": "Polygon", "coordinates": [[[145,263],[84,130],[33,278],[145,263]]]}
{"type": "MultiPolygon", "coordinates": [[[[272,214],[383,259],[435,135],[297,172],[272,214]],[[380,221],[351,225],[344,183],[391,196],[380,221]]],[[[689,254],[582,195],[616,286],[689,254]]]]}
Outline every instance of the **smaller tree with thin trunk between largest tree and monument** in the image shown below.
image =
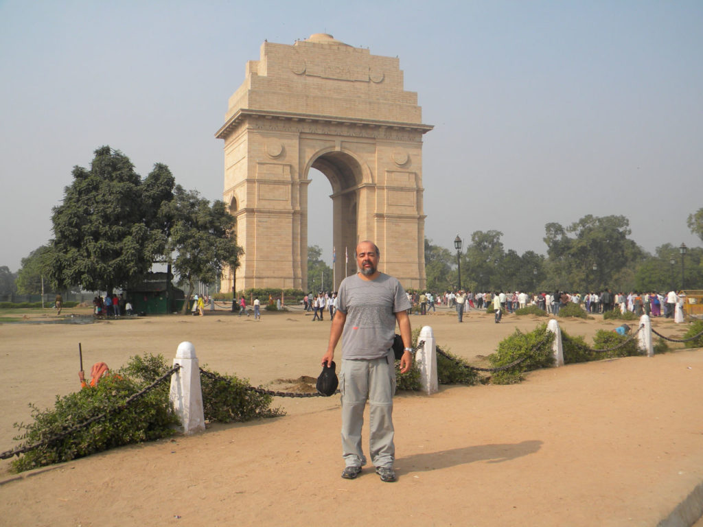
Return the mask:
{"type": "Polygon", "coordinates": [[[233,238],[234,216],[224,202],[212,204],[195,190],[176,185],[174,198],[162,205],[161,216],[169,223],[164,247],[174,272],[188,285],[183,314],[193,296],[195,281],[214,282],[224,266],[238,266],[241,252],[233,238]]]}

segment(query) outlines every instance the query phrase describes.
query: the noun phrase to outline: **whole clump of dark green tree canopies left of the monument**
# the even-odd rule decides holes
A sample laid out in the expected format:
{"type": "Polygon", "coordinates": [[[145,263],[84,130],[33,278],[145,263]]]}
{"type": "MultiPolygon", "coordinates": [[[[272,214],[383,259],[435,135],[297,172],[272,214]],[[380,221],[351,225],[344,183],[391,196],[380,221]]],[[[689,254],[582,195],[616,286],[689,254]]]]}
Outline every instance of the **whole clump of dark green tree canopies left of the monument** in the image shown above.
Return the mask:
{"type": "Polygon", "coordinates": [[[95,151],[89,169],[73,169],[52,221],[42,267],[62,289],[129,287],[155,262],[173,263],[192,287],[196,279],[214,281],[224,265],[236,266],[241,251],[223,202],[210,205],[175,186],[165,164],[155,164],[142,180],[129,158],[109,146],[95,151]]]}

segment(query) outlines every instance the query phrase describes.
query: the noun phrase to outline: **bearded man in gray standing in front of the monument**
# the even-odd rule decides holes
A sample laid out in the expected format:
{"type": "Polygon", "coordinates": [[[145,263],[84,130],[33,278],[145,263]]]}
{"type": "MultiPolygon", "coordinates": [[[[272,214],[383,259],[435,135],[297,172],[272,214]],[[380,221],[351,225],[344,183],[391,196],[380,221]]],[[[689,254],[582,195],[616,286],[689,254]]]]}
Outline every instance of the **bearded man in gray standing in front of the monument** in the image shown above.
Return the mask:
{"type": "Polygon", "coordinates": [[[396,278],[378,271],[380,254],[373,242],[356,246],[359,272],[344,278],[337,298],[339,308],[332,322],[323,365],[330,364],[335,346],[342,338],[342,478],[361,474],[366,456],[361,448],[361,427],[366,399],[369,401],[369,451],[381,481],[396,481],[393,470],[393,394],[396,387],[395,361],[391,349],[396,322],[405,346],[401,373],[410,370],[410,303],[396,278]],[[347,324],[347,322],[349,322],[347,324]]]}

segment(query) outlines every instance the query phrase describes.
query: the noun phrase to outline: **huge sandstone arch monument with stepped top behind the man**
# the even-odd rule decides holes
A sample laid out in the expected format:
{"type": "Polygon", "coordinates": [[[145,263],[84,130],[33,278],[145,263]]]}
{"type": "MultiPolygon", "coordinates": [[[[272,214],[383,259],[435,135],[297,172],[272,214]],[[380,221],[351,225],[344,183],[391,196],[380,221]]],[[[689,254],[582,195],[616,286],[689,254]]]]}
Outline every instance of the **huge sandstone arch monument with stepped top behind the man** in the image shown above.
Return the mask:
{"type": "Polygon", "coordinates": [[[371,55],[329,34],[295,44],[265,41],[229,99],[224,202],[236,217],[240,267],[222,291],[308,290],[307,190],[311,168],[330,182],[337,289],[356,273],[354,249],[372,240],[379,271],[425,287],[423,124],[417,93],[404,91],[399,59],[371,55]]]}

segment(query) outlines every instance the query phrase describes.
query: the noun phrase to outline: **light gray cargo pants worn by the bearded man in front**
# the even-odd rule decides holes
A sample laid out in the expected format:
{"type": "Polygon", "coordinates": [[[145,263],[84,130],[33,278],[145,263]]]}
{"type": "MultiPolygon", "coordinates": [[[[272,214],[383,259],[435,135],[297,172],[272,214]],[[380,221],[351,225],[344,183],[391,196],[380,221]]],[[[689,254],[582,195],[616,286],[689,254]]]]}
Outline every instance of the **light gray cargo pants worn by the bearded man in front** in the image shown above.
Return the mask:
{"type": "Polygon", "coordinates": [[[361,427],[366,399],[369,405],[369,441],[371,462],[375,467],[392,467],[393,394],[396,389],[393,351],[376,359],[342,359],[340,392],[342,393],[342,457],[347,467],[363,467],[366,456],[361,448],[361,427]]]}

